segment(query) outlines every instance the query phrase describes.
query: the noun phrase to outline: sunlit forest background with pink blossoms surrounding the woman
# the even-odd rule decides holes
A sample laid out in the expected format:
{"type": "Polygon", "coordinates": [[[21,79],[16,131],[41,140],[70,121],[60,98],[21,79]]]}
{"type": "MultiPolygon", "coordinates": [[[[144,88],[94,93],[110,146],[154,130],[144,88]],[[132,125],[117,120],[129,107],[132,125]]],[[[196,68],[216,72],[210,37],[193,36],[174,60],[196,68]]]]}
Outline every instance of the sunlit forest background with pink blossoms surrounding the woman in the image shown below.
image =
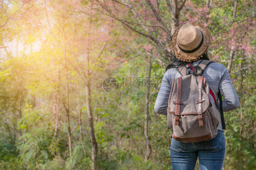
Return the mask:
{"type": "Polygon", "coordinates": [[[171,169],[154,102],[172,35],[191,22],[210,29],[210,58],[240,99],[225,112],[224,169],[256,169],[255,11],[254,0],[0,0],[0,169],[171,169]]]}

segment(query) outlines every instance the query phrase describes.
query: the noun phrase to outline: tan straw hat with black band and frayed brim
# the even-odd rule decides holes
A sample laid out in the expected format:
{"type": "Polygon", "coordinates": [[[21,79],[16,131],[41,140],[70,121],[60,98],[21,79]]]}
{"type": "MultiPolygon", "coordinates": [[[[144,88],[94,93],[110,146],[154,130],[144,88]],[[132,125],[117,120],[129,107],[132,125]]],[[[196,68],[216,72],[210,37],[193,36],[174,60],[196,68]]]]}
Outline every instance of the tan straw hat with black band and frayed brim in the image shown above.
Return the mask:
{"type": "Polygon", "coordinates": [[[211,40],[210,30],[203,24],[184,24],[173,35],[171,48],[176,58],[190,63],[207,53],[211,40]]]}

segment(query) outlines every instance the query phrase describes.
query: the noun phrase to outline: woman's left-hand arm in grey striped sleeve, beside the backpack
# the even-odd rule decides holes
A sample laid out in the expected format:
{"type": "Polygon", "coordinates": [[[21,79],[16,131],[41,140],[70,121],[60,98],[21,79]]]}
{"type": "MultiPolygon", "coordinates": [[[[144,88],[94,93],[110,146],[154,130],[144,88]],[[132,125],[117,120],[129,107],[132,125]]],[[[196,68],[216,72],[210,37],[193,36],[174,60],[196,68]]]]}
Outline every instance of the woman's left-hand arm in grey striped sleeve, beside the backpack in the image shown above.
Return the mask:
{"type": "Polygon", "coordinates": [[[168,79],[168,72],[166,72],[164,74],[158,95],[156,97],[156,102],[154,106],[154,110],[156,113],[161,115],[167,115],[168,100],[171,92],[171,87],[172,85],[168,79]]]}

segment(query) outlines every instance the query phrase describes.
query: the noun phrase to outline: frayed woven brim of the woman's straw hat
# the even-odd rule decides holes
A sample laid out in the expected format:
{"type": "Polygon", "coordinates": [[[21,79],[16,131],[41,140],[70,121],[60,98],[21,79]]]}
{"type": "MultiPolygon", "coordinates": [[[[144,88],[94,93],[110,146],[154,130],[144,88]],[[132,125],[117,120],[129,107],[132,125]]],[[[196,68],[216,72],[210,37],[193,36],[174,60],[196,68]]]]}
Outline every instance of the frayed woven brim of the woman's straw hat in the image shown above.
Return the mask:
{"type": "Polygon", "coordinates": [[[172,44],[171,44],[171,48],[175,53],[175,57],[178,58],[180,61],[189,62],[189,63],[194,62],[200,59],[201,57],[203,57],[204,53],[207,53],[207,49],[209,48],[212,42],[212,36],[210,34],[210,30],[207,27],[205,27],[203,24],[200,24],[200,23],[192,23],[192,25],[194,25],[197,29],[200,29],[200,31],[202,31],[204,35],[204,42],[198,50],[196,50],[193,53],[184,53],[179,49],[177,44],[177,36],[178,36],[179,30],[177,30],[174,33],[172,44]]]}

